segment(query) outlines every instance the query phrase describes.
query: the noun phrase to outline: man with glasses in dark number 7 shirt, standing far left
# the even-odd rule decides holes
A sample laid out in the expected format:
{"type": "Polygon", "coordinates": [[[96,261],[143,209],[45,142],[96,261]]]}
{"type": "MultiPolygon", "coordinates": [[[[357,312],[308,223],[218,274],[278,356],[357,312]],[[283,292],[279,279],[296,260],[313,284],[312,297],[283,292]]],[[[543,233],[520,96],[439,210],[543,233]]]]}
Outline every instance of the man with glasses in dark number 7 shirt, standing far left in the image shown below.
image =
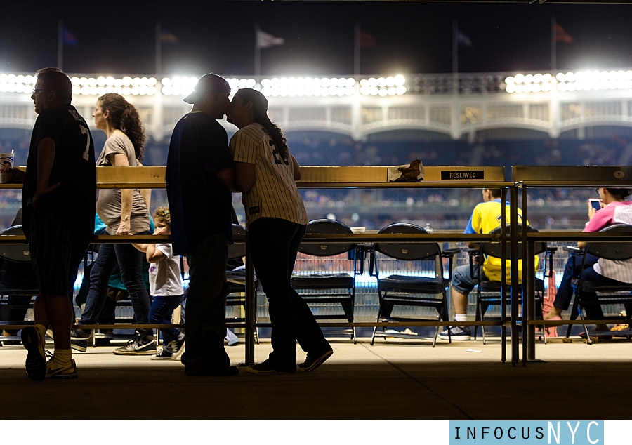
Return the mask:
{"type": "Polygon", "coordinates": [[[40,69],[31,96],[39,114],[22,188],[22,227],[40,292],[35,326],[22,329],[33,380],[77,378],[70,350],[72,291],[92,240],[96,204],[94,144],[88,124],[70,102],[72,83],[58,68],[40,69]],[[48,362],[44,333],[51,326],[55,353],[48,362]]]}

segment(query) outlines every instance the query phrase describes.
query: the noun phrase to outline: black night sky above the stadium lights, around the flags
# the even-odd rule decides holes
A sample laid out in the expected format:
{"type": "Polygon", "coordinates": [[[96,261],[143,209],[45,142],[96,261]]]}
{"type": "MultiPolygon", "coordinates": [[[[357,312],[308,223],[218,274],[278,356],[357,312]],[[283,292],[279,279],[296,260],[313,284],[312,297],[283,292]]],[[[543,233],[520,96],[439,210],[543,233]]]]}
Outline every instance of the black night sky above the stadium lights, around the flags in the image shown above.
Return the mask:
{"type": "Polygon", "coordinates": [[[354,25],[375,37],[362,74],[452,72],[452,21],[472,45],[460,72],[547,70],[551,16],[572,36],[558,44],[559,69],[632,66],[631,5],[419,1],[0,1],[0,72],[57,62],[62,19],[69,73],[153,74],[157,22],[178,38],[163,44],[163,72],[254,74],[254,29],[285,44],[261,50],[261,74],[353,74],[354,25]]]}

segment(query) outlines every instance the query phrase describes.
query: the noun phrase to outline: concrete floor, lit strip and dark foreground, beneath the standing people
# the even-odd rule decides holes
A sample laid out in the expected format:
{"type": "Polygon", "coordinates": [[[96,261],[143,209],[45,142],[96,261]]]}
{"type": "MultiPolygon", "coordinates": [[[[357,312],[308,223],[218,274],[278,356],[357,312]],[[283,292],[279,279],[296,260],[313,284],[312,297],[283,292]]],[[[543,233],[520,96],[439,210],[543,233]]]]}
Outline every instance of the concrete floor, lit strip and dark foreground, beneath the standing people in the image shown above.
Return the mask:
{"type": "MultiPolygon", "coordinates": [[[[538,343],[526,367],[500,361],[500,340],[331,340],[311,373],[191,378],[177,361],[121,357],[113,346],[75,353],[77,380],[33,382],[26,351],[0,347],[3,418],[48,420],[536,420],[632,418],[632,342],[538,343]],[[473,351],[468,351],[473,350],[473,351]],[[169,403],[166,404],[166,401],[169,403]],[[33,409],[33,406],[58,408],[33,409]],[[595,407],[598,406],[598,409],[595,407]]],[[[233,364],[243,344],[226,348],[233,364]]],[[[256,346],[256,359],[270,352],[256,346]]],[[[304,357],[299,350],[299,359],[304,357]]]]}

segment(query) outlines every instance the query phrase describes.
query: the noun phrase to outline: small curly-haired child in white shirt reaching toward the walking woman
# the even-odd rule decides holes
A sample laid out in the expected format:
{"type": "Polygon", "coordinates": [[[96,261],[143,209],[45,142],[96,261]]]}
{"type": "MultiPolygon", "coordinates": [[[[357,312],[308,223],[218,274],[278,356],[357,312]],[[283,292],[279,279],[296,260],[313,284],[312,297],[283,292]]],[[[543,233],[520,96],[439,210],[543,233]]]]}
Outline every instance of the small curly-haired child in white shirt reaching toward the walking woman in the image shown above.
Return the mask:
{"type": "MultiPolygon", "coordinates": [[[[171,214],[168,207],[159,207],[154,215],[154,235],[171,234],[171,214]]],[[[182,303],[183,286],[179,257],[174,257],[171,244],[133,244],[147,254],[150,263],[150,292],[152,307],[149,321],[152,324],[171,324],[173,310],[182,303]]],[[[152,359],[180,358],[185,350],[185,336],[178,329],[161,329],[163,347],[152,359]]]]}

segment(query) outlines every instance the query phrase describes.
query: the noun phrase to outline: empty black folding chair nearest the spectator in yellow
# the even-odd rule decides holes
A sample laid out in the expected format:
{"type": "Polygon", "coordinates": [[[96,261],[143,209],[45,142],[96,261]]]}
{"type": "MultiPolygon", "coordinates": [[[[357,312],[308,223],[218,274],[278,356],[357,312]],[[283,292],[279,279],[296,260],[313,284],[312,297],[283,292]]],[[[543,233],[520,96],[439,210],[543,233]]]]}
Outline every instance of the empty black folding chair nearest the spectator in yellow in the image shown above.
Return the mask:
{"type": "MultiPolygon", "coordinates": [[[[395,223],[383,227],[380,234],[425,234],[426,230],[413,224],[395,223]]],[[[447,288],[452,279],[454,254],[459,249],[442,252],[436,242],[375,243],[371,253],[369,274],[377,277],[379,309],[376,321],[449,321],[447,288]],[[443,258],[449,258],[448,277],[444,277],[443,258]],[[404,306],[402,314],[394,314],[395,306],[404,306]],[[411,307],[432,307],[437,315],[420,314],[413,317],[411,307]]],[[[435,330],[433,347],[437,343],[440,326],[435,330]]],[[[373,329],[371,345],[376,337],[419,338],[407,333],[378,332],[373,329]]]]}

